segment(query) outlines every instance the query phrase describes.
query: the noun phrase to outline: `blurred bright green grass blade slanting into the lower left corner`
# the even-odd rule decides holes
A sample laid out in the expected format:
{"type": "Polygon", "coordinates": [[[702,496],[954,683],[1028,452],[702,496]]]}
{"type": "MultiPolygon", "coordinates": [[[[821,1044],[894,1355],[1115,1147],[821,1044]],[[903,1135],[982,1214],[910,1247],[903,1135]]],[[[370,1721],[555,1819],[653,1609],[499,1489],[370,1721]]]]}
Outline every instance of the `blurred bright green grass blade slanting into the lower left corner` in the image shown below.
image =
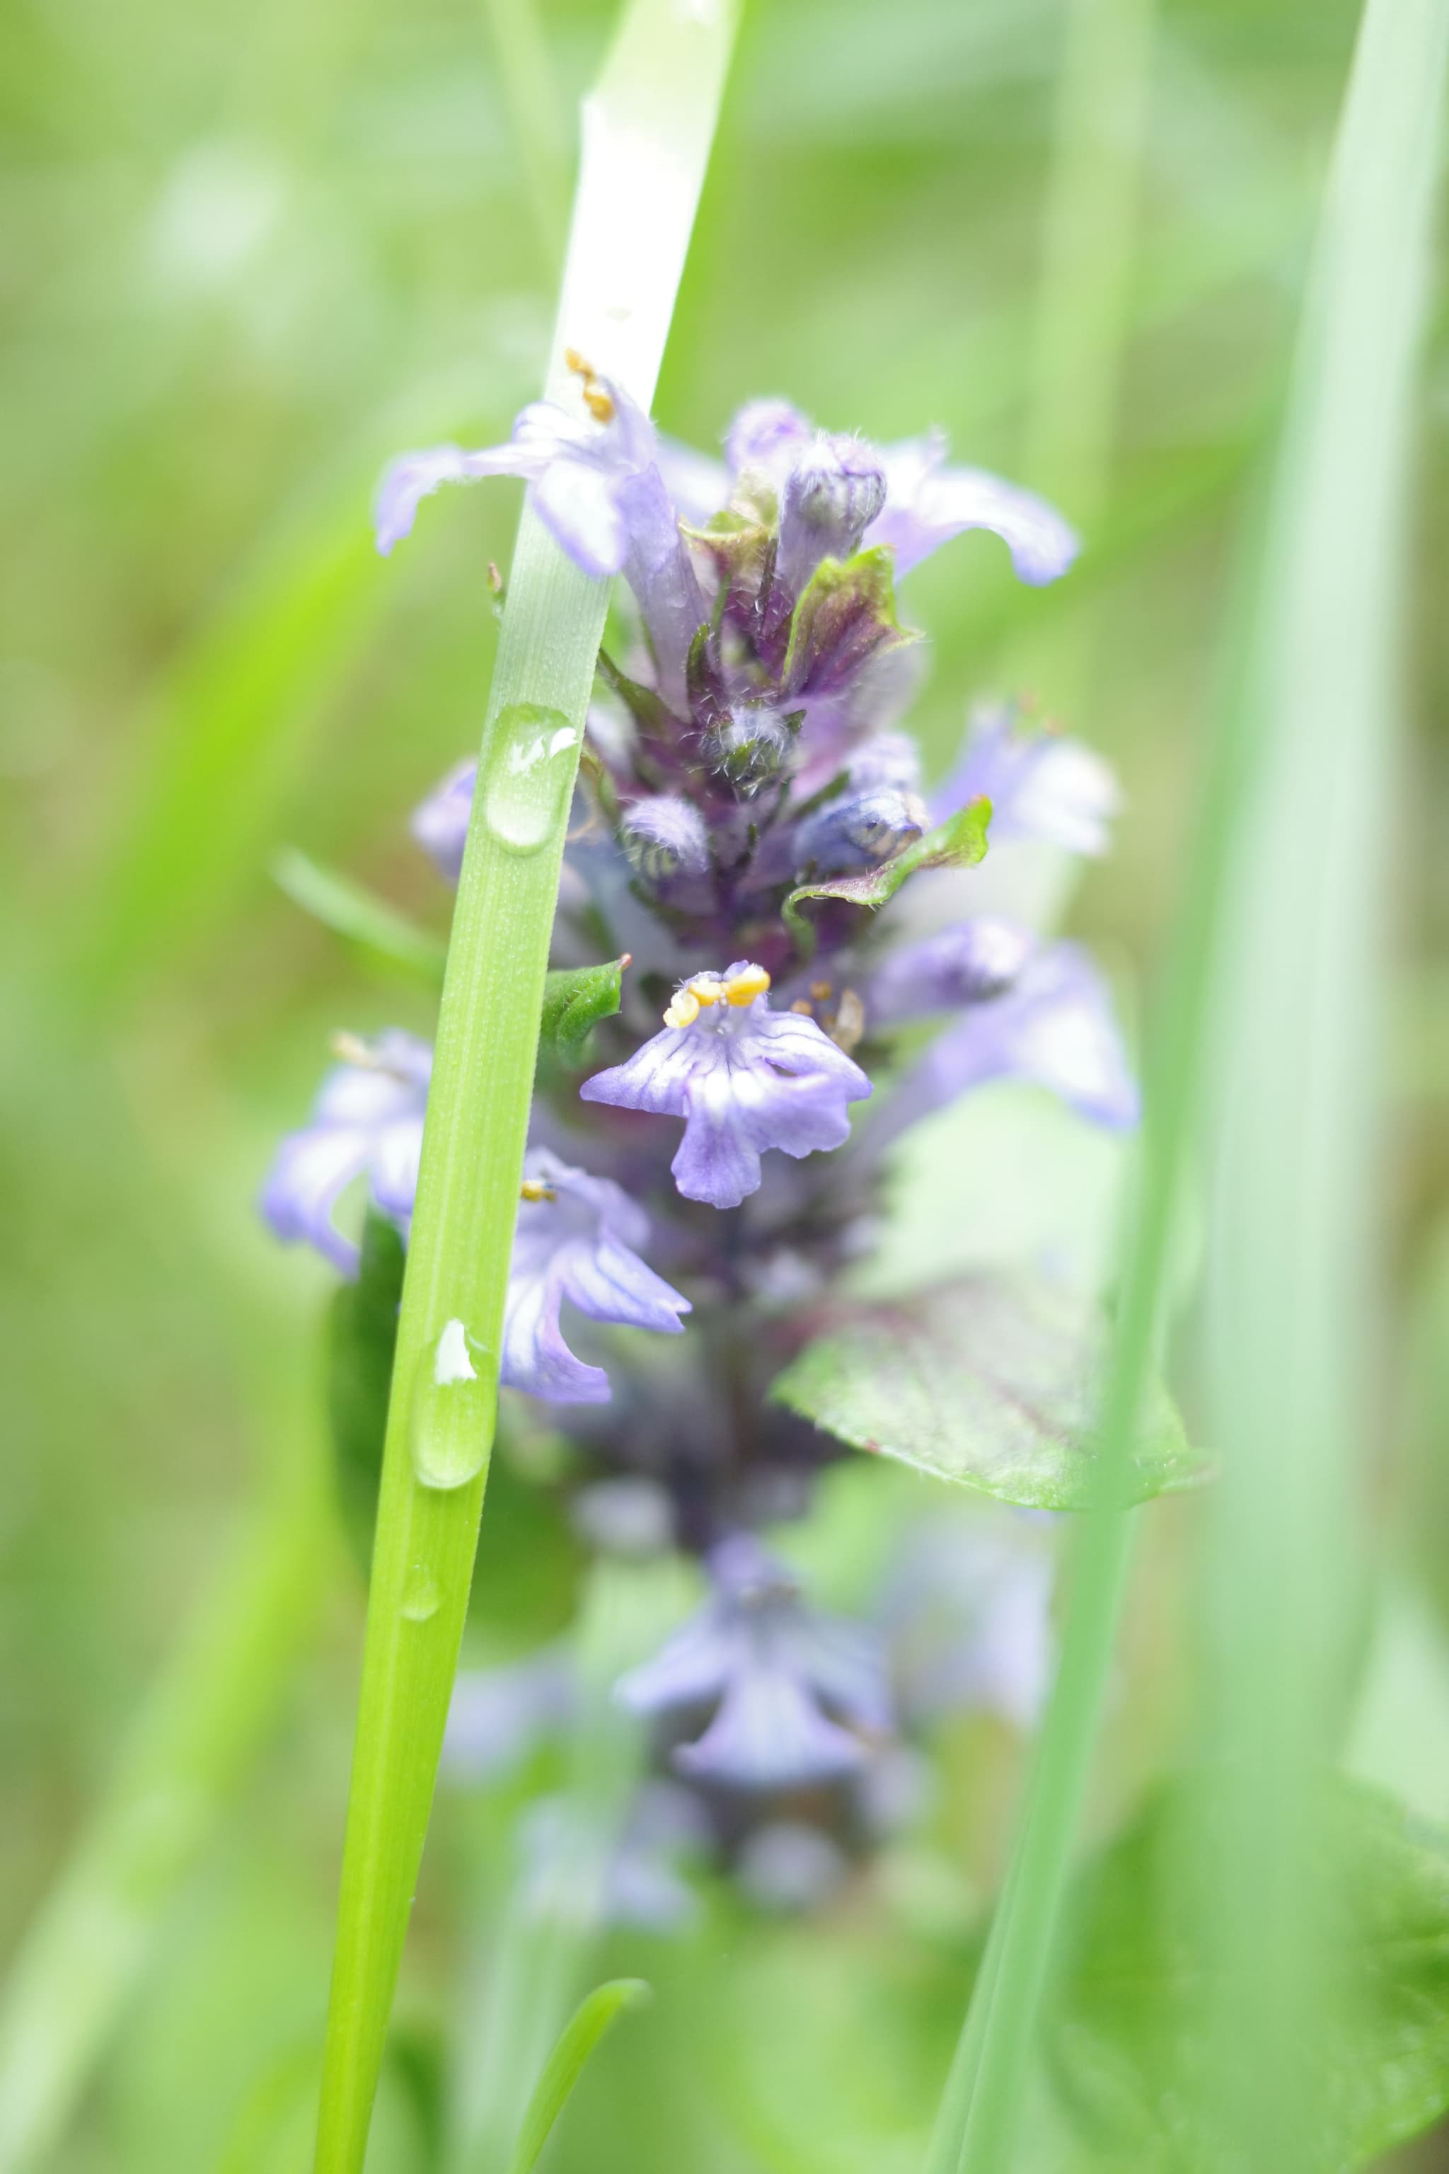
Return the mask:
{"type": "Polygon", "coordinates": [[[291,1681],[328,1580],[319,1454],[261,1524],[152,1691],[109,1798],[30,1928],[0,2007],[0,2165],[39,2167],[291,1681]]]}

